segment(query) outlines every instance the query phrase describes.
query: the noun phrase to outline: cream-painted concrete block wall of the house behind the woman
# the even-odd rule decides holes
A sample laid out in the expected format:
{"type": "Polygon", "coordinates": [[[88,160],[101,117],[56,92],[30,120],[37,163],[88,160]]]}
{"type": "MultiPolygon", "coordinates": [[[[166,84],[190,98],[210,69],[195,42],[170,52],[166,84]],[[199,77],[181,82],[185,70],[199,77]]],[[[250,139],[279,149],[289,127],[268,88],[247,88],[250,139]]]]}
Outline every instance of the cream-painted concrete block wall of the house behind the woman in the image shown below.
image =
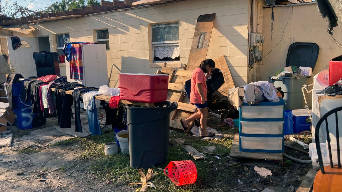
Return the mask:
{"type": "MultiPolygon", "coordinates": [[[[34,35],[49,35],[55,39],[55,35],[69,33],[71,42],[92,42],[96,40],[95,30],[108,29],[108,77],[114,65],[110,86],[117,87],[119,73],[154,73],[163,65],[150,62],[151,24],[179,22],[180,62],[168,65],[180,68],[187,64],[198,16],[210,13],[216,13],[216,17],[207,58],[225,55],[235,85],[245,84],[248,77],[248,0],[189,0],[46,22],[34,25],[39,29],[34,35]]],[[[52,51],[55,51],[54,41],[50,41],[52,51]]]]}

